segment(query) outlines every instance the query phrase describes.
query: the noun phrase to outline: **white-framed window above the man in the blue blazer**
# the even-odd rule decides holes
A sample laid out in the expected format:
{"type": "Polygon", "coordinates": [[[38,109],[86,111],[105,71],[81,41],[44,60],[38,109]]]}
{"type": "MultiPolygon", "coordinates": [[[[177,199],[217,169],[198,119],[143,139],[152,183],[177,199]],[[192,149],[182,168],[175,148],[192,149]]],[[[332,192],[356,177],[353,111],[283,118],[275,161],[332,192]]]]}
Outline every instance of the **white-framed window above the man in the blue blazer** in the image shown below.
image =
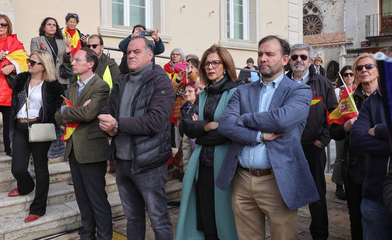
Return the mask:
{"type": "Polygon", "coordinates": [[[249,0],[226,0],[227,38],[249,40],[249,0]]]}

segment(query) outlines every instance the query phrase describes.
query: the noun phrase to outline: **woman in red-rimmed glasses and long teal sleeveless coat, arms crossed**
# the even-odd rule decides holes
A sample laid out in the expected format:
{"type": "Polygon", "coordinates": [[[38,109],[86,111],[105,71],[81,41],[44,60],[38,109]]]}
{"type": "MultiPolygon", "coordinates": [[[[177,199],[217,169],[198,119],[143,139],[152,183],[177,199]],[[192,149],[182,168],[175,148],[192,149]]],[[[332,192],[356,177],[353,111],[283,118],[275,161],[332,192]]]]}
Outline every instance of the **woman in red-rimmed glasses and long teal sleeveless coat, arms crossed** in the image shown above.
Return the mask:
{"type": "Polygon", "coordinates": [[[207,86],[182,122],[184,134],[196,138],[198,147],[183,178],[176,239],[191,239],[189,236],[206,240],[238,239],[231,188],[226,191],[216,188],[214,172],[219,172],[231,144],[218,133],[218,121],[232,93],[243,82],[237,78],[230,53],[217,45],[203,53],[199,77],[201,84],[207,86]]]}

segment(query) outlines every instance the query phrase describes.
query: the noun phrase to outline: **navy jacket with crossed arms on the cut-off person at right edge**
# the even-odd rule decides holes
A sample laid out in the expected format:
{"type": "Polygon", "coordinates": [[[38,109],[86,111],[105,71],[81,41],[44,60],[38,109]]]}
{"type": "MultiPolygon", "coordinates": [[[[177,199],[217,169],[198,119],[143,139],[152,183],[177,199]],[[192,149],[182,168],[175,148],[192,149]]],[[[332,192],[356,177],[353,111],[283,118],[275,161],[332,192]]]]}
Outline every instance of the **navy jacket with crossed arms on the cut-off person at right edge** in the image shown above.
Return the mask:
{"type": "Polygon", "coordinates": [[[363,102],[358,119],[350,130],[350,147],[368,154],[362,197],[383,203],[383,183],[392,152],[380,89],[363,102]],[[368,130],[376,124],[376,136],[368,134],[368,130]]]}

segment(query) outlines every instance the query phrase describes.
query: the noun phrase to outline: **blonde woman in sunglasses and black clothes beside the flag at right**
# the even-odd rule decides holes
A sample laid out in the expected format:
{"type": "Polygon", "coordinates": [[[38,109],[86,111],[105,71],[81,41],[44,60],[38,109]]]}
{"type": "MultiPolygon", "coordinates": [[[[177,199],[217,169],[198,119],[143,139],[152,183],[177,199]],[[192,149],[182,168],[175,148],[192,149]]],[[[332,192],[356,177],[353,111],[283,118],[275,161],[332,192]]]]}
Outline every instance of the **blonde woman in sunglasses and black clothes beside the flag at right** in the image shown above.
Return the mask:
{"type": "MultiPolygon", "coordinates": [[[[352,96],[358,111],[361,112],[361,107],[365,100],[368,98],[368,96],[372,95],[372,93],[374,93],[374,91],[376,91],[378,88],[378,70],[376,66],[376,59],[374,58],[373,54],[362,54],[355,59],[353,68],[355,83],[358,84],[358,87],[353,92],[352,96]]],[[[347,70],[344,71],[343,68],[341,72],[343,72],[344,74],[347,73],[347,70]]],[[[344,76],[342,77],[345,81],[347,80],[347,78],[345,78],[344,76]]],[[[352,145],[349,144],[351,137],[350,130],[355,121],[356,118],[352,118],[342,124],[333,123],[330,126],[330,136],[335,141],[345,141],[343,153],[340,158],[341,177],[344,182],[347,206],[349,208],[348,214],[350,215],[351,236],[352,239],[362,239],[362,196],[369,198],[370,195],[370,199],[373,199],[374,191],[365,190],[366,188],[364,185],[367,168],[367,154],[362,152],[361,149],[353,148],[352,145]],[[365,195],[363,195],[363,193],[365,193],[365,195]]],[[[385,176],[386,172],[387,170],[385,171],[385,173],[380,172],[379,174],[385,176]]],[[[374,186],[372,185],[369,185],[367,188],[369,187],[370,189],[374,188],[374,186]]]]}

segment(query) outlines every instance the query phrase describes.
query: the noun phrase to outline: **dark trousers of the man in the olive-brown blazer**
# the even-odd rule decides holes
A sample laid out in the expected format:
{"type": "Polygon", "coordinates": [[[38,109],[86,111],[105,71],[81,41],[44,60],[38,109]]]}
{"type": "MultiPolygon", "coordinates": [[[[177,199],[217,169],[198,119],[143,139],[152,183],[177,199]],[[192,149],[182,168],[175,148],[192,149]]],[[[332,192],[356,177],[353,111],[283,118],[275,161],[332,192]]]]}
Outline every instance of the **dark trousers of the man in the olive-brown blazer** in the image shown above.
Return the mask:
{"type": "Polygon", "coordinates": [[[69,167],[76,202],[82,215],[82,240],[110,240],[113,236],[112,210],[105,191],[107,161],[78,163],[74,150],[69,154],[69,167]],[[96,235],[95,236],[95,229],[96,235]]]}

